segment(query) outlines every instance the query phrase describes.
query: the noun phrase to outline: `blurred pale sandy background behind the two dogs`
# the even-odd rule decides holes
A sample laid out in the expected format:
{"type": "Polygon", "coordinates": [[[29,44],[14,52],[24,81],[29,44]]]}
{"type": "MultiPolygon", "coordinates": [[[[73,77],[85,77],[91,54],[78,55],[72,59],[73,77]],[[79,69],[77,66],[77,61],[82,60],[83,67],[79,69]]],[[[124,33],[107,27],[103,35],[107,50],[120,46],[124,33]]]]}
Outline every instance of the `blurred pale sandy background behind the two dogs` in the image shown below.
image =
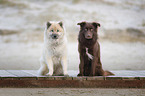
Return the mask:
{"type": "Polygon", "coordinates": [[[0,0],[0,70],[36,70],[47,21],[63,21],[68,70],[78,70],[78,22],[95,21],[106,70],[145,70],[145,0],[0,0]]]}

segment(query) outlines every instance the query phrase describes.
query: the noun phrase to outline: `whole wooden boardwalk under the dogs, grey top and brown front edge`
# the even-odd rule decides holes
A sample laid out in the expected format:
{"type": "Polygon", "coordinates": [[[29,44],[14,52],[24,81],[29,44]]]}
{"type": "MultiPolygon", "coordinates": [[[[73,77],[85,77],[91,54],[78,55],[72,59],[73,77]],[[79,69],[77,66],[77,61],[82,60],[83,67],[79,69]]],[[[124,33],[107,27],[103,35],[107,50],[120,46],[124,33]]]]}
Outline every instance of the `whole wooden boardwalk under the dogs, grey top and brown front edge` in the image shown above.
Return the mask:
{"type": "Polygon", "coordinates": [[[144,71],[138,73],[139,76],[48,77],[37,76],[36,70],[0,70],[0,88],[145,88],[144,71]]]}

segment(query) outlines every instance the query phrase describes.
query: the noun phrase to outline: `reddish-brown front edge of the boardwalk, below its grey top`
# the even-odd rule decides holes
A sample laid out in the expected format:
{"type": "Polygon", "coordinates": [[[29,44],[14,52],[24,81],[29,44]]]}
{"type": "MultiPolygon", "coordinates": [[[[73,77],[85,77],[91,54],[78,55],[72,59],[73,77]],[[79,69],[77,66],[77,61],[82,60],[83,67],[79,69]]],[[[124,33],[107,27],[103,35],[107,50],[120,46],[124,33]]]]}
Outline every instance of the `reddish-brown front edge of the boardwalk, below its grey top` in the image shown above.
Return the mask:
{"type": "Polygon", "coordinates": [[[123,78],[124,77],[0,77],[0,87],[145,88],[145,77],[123,78]]]}

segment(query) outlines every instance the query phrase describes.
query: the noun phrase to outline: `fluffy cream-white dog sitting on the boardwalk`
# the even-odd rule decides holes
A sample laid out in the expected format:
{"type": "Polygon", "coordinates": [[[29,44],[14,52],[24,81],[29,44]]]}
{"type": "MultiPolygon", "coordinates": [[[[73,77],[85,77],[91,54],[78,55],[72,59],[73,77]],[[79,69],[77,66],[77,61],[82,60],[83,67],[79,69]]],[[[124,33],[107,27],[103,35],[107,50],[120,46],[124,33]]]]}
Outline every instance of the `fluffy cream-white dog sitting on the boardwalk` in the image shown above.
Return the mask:
{"type": "Polygon", "coordinates": [[[39,75],[68,76],[67,39],[62,22],[47,22],[39,75]]]}

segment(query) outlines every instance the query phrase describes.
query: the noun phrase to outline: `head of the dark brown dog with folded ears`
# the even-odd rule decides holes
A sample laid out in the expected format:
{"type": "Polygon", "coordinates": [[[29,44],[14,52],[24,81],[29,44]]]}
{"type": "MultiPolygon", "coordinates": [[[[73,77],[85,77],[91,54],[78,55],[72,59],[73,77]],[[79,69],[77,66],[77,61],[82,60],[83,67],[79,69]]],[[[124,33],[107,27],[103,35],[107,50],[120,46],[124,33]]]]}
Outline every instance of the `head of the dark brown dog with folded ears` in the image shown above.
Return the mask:
{"type": "Polygon", "coordinates": [[[83,34],[87,40],[93,39],[93,36],[97,36],[97,28],[100,27],[100,24],[97,22],[81,22],[77,25],[80,25],[80,33],[83,34]]]}

